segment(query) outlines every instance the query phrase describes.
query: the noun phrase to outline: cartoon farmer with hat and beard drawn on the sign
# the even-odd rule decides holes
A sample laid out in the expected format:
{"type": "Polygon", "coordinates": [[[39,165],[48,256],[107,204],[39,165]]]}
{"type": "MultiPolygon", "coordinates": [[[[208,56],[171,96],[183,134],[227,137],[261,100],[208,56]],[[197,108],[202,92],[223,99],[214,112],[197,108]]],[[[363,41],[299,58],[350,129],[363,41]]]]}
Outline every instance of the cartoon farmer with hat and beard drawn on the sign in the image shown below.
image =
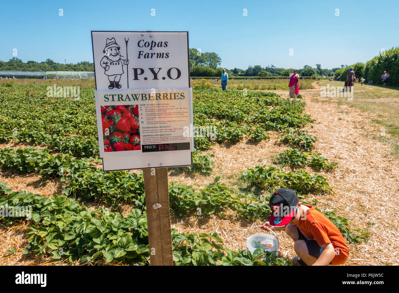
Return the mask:
{"type": "Polygon", "coordinates": [[[108,75],[108,88],[121,88],[119,84],[120,76],[124,73],[123,65],[128,65],[128,59],[121,59],[120,46],[115,41],[115,38],[107,39],[103,53],[105,56],[101,59],[101,67],[104,68],[105,74],[108,75]]]}

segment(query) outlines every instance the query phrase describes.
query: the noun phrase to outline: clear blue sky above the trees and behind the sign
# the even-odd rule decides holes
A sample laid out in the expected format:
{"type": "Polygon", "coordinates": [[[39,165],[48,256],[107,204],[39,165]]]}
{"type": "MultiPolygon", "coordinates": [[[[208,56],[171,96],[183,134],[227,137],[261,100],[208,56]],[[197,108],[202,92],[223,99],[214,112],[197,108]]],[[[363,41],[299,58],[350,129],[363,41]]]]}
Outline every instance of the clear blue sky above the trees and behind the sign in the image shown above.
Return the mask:
{"type": "Polygon", "coordinates": [[[4,1],[0,7],[3,61],[14,57],[15,48],[24,62],[93,62],[91,30],[189,31],[190,47],[216,52],[228,69],[316,63],[333,68],[365,62],[382,48],[399,45],[397,0],[24,0],[4,1]]]}

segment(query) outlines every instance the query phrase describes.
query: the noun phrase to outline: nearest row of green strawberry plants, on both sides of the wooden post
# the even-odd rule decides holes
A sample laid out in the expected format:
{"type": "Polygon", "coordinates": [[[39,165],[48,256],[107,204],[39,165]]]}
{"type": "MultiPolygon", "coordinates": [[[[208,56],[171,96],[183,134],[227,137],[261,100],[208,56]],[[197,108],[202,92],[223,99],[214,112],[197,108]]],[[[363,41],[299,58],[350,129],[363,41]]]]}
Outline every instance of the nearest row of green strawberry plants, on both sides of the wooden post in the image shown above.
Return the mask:
{"type": "MultiPolygon", "coordinates": [[[[0,205],[32,206],[32,220],[26,231],[28,246],[23,254],[49,255],[55,261],[67,259],[78,264],[93,264],[99,259],[139,265],[151,261],[146,214],[138,209],[126,217],[103,208],[89,211],[65,196],[45,198],[25,191],[12,192],[3,182],[0,205]]],[[[16,219],[2,216],[0,220],[10,226],[16,219]]],[[[216,233],[171,232],[175,265],[278,264],[278,259],[259,261],[263,250],[253,254],[228,250],[216,233]]]]}

